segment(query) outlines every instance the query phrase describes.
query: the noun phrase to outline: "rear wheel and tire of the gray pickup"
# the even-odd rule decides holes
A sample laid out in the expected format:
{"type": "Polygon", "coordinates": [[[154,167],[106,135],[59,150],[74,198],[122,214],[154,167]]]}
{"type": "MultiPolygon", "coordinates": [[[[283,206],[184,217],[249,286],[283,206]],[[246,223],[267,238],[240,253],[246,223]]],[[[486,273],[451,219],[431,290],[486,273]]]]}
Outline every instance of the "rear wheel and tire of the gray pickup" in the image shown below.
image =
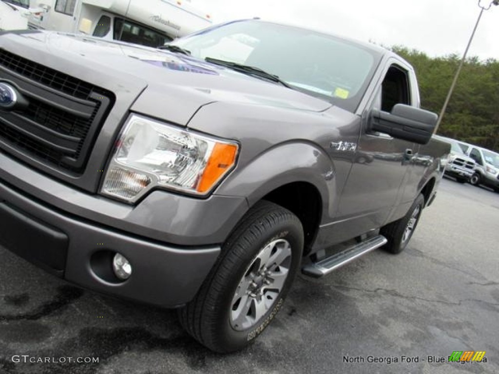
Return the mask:
{"type": "Polygon", "coordinates": [[[425,198],[419,194],[404,217],[381,228],[380,234],[388,239],[388,243],[383,246],[383,249],[397,254],[407,247],[416,230],[424,205],[425,198]]]}

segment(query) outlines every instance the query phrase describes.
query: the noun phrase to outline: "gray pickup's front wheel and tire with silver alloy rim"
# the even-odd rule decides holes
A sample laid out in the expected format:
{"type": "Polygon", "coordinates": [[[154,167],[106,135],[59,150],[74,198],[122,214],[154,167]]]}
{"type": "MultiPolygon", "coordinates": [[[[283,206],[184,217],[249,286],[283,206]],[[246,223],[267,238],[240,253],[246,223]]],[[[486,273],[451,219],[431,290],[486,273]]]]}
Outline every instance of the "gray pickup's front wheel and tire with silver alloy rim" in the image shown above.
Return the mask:
{"type": "Polygon", "coordinates": [[[194,300],[179,310],[182,326],[212,351],[245,348],[281,308],[302,250],[299,219],[279,205],[258,202],[223,245],[194,300]]]}

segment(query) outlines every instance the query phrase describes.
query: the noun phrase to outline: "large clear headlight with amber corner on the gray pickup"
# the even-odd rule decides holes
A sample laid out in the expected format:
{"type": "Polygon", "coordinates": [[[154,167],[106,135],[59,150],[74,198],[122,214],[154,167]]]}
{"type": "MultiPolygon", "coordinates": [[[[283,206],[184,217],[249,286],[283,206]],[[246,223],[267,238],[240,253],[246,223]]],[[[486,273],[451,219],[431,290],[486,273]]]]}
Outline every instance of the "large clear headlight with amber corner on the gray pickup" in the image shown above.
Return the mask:
{"type": "Polygon", "coordinates": [[[236,143],[131,115],[101,192],[127,201],[156,186],[205,195],[232,170],[237,154],[236,143]]]}

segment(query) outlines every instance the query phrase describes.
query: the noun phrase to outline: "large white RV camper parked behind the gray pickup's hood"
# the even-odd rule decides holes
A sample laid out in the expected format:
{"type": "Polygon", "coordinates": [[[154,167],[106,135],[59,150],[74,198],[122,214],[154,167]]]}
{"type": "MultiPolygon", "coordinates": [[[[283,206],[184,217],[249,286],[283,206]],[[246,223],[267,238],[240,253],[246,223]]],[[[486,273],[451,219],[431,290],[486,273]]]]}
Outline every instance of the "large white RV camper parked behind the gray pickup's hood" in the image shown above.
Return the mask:
{"type": "Polygon", "coordinates": [[[45,12],[30,19],[30,28],[84,33],[152,47],[212,24],[211,16],[192,6],[190,0],[34,2],[45,12]]]}

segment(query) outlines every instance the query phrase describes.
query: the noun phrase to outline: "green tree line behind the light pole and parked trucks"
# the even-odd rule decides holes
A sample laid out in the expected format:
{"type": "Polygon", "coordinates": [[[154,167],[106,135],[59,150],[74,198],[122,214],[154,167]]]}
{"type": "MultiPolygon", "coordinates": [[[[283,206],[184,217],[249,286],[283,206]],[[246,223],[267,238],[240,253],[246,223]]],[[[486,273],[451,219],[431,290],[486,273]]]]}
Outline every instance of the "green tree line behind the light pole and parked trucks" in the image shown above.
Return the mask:
{"type": "MultiPolygon", "coordinates": [[[[421,106],[440,113],[461,56],[429,57],[403,46],[391,48],[418,76],[421,106]]],[[[499,152],[499,61],[467,58],[438,134],[499,152]]]]}

